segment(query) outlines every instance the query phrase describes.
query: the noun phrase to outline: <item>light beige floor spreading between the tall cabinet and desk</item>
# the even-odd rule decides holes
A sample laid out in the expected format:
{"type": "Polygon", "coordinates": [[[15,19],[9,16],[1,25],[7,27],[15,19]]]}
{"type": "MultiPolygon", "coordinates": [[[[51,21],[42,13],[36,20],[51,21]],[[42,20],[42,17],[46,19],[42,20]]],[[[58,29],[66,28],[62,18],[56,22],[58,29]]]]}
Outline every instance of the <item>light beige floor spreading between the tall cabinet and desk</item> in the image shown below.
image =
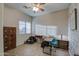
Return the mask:
{"type": "MultiPolygon", "coordinates": [[[[5,52],[7,56],[49,56],[42,52],[42,48],[39,43],[23,44],[13,50],[5,52]]],[[[52,52],[52,56],[68,56],[68,51],[62,49],[56,49],[56,53],[52,52]],[[53,54],[54,53],[54,54],[53,54]]]]}

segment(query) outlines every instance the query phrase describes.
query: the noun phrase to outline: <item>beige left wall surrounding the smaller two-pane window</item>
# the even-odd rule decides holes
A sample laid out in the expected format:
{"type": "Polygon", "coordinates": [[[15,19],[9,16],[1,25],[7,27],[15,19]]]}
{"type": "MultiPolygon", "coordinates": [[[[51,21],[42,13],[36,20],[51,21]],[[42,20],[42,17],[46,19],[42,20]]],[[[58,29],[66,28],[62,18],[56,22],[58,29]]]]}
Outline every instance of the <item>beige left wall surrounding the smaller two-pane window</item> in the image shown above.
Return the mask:
{"type": "Polygon", "coordinates": [[[29,37],[30,34],[19,34],[19,21],[23,20],[23,21],[28,21],[31,22],[31,17],[25,15],[24,13],[20,12],[17,9],[8,7],[5,5],[4,8],[4,26],[10,26],[10,27],[16,27],[17,30],[17,36],[16,36],[16,44],[21,45],[24,43],[24,41],[29,37]]]}

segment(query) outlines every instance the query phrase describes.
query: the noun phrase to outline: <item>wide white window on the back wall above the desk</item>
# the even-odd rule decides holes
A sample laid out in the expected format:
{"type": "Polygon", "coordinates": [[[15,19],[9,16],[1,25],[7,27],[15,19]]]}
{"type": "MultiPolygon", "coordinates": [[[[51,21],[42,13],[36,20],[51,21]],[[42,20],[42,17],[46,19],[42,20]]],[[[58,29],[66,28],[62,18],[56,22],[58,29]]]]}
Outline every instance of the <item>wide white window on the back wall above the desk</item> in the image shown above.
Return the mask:
{"type": "Polygon", "coordinates": [[[35,34],[36,35],[51,35],[55,36],[57,34],[56,26],[46,26],[46,25],[35,25],[35,34]]]}

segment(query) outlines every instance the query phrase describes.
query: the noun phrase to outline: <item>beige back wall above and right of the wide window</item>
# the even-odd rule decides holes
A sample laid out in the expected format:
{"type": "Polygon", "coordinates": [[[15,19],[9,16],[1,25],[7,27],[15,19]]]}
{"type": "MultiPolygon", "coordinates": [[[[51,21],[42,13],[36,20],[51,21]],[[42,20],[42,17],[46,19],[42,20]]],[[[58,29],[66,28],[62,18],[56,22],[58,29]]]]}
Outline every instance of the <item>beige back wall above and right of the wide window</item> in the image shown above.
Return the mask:
{"type": "MultiPolygon", "coordinates": [[[[53,25],[58,27],[58,35],[64,34],[68,35],[68,11],[61,10],[54,13],[49,13],[43,16],[38,16],[33,18],[33,26],[34,24],[44,24],[44,25],[53,25]]],[[[33,28],[33,33],[34,33],[33,28]]]]}

